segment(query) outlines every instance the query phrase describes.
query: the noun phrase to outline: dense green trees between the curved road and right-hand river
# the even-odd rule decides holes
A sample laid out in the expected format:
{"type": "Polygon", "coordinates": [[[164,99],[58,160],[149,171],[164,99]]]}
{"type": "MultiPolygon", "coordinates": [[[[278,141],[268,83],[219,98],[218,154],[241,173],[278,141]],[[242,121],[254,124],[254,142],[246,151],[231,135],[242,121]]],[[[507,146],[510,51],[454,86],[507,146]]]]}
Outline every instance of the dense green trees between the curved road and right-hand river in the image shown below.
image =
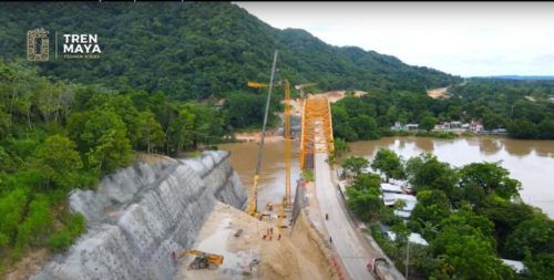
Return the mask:
{"type": "MultiPolygon", "coordinates": [[[[342,162],[349,209],[370,225],[386,253],[404,271],[408,236],[420,234],[429,243],[410,243],[410,274],[428,279],[551,279],[554,274],[554,221],[521,201],[521,183],[501,163],[473,163],[454,168],[430,154],[404,162],[380,149],[372,163],[351,156],[342,162]],[[372,167],[380,175],[363,172],[372,167]],[[418,203],[410,218],[384,206],[380,184],[407,179],[418,203]],[[387,225],[397,236],[383,235],[387,225]],[[517,274],[500,258],[521,260],[517,274]]],[[[401,200],[399,200],[401,201],[401,200]]]]}

